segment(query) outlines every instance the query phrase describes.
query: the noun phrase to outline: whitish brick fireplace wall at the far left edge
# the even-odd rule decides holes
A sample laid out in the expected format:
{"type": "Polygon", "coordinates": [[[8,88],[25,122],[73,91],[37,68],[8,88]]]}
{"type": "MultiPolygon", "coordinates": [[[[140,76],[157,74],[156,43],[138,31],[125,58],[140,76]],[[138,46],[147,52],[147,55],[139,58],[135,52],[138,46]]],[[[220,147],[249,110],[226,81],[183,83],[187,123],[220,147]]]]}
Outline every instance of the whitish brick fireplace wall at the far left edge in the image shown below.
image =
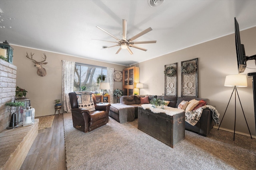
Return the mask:
{"type": "Polygon", "coordinates": [[[0,59],[0,132],[10,123],[10,113],[6,102],[14,101],[17,67],[0,59]]]}

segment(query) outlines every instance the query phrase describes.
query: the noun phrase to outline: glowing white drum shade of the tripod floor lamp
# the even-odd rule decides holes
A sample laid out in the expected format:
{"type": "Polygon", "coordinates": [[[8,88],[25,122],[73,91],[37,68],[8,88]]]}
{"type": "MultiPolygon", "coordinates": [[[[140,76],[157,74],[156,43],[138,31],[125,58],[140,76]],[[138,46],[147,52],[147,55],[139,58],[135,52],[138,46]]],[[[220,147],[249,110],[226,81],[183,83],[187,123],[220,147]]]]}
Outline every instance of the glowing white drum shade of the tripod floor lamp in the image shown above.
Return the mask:
{"type": "Polygon", "coordinates": [[[247,78],[246,75],[237,74],[226,76],[224,86],[229,87],[247,87],[247,78]]]}

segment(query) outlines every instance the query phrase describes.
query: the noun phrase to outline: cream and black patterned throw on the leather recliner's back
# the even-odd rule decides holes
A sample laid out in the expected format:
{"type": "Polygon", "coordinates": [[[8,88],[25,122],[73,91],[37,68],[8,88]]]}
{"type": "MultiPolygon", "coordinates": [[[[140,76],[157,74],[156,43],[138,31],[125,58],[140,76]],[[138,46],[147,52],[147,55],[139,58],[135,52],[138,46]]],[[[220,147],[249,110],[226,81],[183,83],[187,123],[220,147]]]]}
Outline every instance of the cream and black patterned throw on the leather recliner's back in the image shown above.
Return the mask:
{"type": "Polygon", "coordinates": [[[90,112],[96,110],[92,98],[92,93],[90,92],[76,92],[78,108],[87,109],[90,112]]]}

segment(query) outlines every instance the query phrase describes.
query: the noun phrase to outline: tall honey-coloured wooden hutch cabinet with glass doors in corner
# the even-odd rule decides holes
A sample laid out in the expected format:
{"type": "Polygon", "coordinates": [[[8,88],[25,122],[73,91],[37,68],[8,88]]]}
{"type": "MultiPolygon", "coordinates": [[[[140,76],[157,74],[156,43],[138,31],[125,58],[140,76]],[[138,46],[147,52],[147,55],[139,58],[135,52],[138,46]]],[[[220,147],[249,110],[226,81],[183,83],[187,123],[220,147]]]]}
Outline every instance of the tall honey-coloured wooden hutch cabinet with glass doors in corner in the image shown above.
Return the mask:
{"type": "Polygon", "coordinates": [[[133,66],[123,70],[123,90],[124,96],[139,94],[136,84],[140,81],[140,68],[133,66]]]}

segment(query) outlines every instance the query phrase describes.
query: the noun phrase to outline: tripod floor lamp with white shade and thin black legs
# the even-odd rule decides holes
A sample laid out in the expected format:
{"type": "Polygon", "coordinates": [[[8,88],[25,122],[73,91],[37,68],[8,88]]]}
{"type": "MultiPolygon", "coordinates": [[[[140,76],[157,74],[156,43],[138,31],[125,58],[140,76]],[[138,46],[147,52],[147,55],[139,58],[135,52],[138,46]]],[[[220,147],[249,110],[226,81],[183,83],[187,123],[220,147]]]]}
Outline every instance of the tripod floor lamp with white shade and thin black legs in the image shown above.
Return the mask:
{"type": "MultiPolygon", "coordinates": [[[[242,104],[241,104],[241,101],[240,101],[240,98],[239,98],[239,95],[238,95],[238,92],[237,92],[236,87],[247,87],[247,78],[246,78],[246,75],[238,74],[238,75],[229,75],[229,76],[226,76],[224,86],[234,87],[234,89],[233,89],[233,91],[232,91],[232,94],[231,94],[231,96],[230,96],[230,99],[229,99],[229,101],[228,101],[228,105],[229,105],[229,102],[230,102],[230,100],[231,100],[231,98],[232,98],[233,93],[235,92],[235,124],[234,124],[234,139],[233,139],[233,141],[234,141],[234,140],[235,140],[235,131],[236,131],[236,94],[237,94],[237,96],[238,96],[238,99],[239,99],[239,102],[240,102],[242,111],[243,111],[243,113],[244,113],[244,110],[243,110],[243,107],[242,107],[242,104]]],[[[226,113],[227,109],[228,109],[228,106],[226,107],[225,113],[226,113]]],[[[223,115],[223,117],[222,117],[222,120],[223,120],[223,118],[224,118],[224,116],[225,116],[225,113],[224,113],[224,115],[223,115]]],[[[245,119],[245,121],[246,121],[245,115],[244,115],[244,119],[245,119]]],[[[221,122],[220,122],[220,125],[221,125],[221,123],[222,123],[222,120],[221,120],[221,122]]],[[[220,129],[220,125],[219,125],[218,130],[220,129]]],[[[249,126],[248,126],[247,121],[246,121],[246,125],[247,125],[248,130],[249,130],[249,133],[250,133],[250,135],[251,135],[251,132],[250,132],[250,129],[249,129],[249,126]]],[[[251,138],[252,138],[252,135],[251,135],[251,138]]]]}

